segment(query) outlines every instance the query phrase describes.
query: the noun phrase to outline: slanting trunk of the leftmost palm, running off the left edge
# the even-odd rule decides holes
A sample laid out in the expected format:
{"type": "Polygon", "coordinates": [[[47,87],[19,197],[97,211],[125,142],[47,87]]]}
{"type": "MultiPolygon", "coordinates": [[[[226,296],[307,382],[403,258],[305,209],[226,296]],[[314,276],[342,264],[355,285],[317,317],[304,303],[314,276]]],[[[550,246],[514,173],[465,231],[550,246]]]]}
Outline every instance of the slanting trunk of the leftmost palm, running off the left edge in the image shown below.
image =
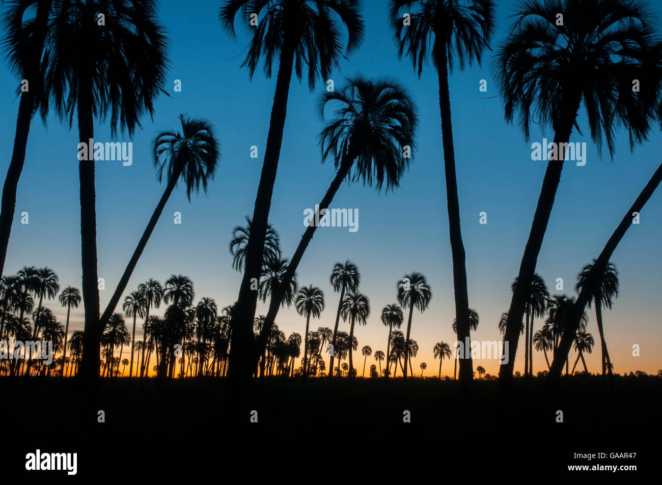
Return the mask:
{"type": "Polygon", "coordinates": [[[39,73],[42,52],[44,50],[44,41],[48,25],[48,16],[50,15],[50,2],[41,1],[38,3],[36,17],[34,21],[34,42],[32,52],[34,58],[30,59],[26,66],[24,79],[29,81],[28,91],[21,93],[19,101],[19,113],[16,120],[16,134],[14,136],[14,146],[7,169],[7,178],[3,185],[2,203],[0,206],[0,275],[5,269],[5,258],[7,257],[7,246],[9,245],[9,235],[11,234],[11,224],[14,220],[16,210],[16,192],[19,187],[19,179],[23,172],[25,162],[25,150],[28,144],[28,135],[30,134],[30,124],[32,123],[32,114],[34,114],[34,100],[36,94],[42,91],[42,79],[39,73]]]}

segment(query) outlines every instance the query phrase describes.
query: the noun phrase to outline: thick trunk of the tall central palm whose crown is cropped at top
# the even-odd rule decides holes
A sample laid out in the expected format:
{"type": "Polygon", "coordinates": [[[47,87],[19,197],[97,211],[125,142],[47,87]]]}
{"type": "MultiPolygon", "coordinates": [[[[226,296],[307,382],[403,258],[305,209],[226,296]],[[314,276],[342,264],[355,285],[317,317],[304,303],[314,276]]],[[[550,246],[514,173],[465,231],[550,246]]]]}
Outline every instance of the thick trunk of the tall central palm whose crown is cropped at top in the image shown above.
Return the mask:
{"type": "Polygon", "coordinates": [[[253,368],[253,321],[258,304],[258,292],[251,289],[251,280],[260,280],[267,222],[269,210],[271,209],[271,195],[276,180],[278,160],[283,142],[283,129],[285,128],[285,118],[287,116],[287,98],[292,79],[294,54],[295,46],[284,39],[279,58],[276,89],[273,96],[273,106],[271,107],[271,120],[269,120],[269,133],[267,134],[260,185],[258,185],[251,232],[246,246],[246,269],[237,302],[232,309],[230,325],[234,330],[234,341],[230,348],[230,377],[250,378],[251,369],[253,368]]]}

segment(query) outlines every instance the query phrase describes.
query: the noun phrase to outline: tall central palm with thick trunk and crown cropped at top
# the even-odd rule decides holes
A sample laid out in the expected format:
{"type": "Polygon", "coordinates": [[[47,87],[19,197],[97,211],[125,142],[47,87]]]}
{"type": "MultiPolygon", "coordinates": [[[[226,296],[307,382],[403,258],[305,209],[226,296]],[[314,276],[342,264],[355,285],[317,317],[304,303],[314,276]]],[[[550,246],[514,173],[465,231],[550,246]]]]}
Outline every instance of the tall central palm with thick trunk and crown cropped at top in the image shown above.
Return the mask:
{"type": "MultiPolygon", "coordinates": [[[[342,32],[347,29],[347,53],[357,50],[363,39],[363,19],[358,11],[359,0],[224,0],[220,7],[220,24],[234,37],[234,19],[238,13],[252,32],[252,41],[242,67],[247,66],[252,77],[264,56],[265,75],[271,77],[273,61],[278,56],[278,73],[271,108],[271,121],[264,160],[252,217],[252,232],[246,252],[246,271],[232,320],[234,338],[230,349],[230,373],[248,378],[253,369],[251,326],[255,317],[257,294],[250,289],[252,279],[258,279],[262,267],[262,250],[267,234],[271,195],[276,179],[287,114],[287,99],[292,69],[301,79],[308,66],[308,86],[312,90],[318,76],[326,81],[338,67],[342,56],[342,32]],[[252,15],[259,19],[251,26],[252,15]],[[235,368],[234,370],[233,367],[235,368]]],[[[269,324],[270,330],[271,324],[269,324]]],[[[262,336],[262,339],[267,332],[262,336]]],[[[265,343],[263,341],[262,343],[265,343]]],[[[258,351],[258,353],[260,353],[258,351]]]]}

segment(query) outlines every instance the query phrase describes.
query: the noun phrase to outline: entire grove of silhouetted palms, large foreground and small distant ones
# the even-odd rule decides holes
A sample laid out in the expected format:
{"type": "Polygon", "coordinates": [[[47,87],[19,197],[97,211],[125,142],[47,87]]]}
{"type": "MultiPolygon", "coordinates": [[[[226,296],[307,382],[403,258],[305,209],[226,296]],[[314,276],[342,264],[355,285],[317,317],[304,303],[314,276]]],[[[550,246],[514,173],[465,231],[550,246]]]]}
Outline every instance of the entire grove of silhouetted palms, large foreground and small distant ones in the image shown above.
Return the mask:
{"type": "MultiPolygon", "coordinates": [[[[451,328],[457,340],[465,342],[476,330],[479,318],[469,306],[460,227],[449,92],[453,68],[481,64],[485,52],[493,50],[492,67],[506,122],[517,120],[528,139],[530,122],[536,118],[553,130],[554,142],[564,144],[575,128],[579,130],[577,118],[583,109],[592,140],[598,146],[606,141],[613,156],[617,128],[628,130],[635,146],[645,142],[662,121],[662,44],[651,28],[650,5],[643,2],[522,2],[514,12],[515,22],[498,44],[493,44],[495,2],[490,0],[389,0],[388,11],[391,24],[385,28],[393,33],[393,55],[408,58],[419,77],[428,65],[438,76],[455,297],[451,328]],[[633,79],[640,81],[640,89],[633,89],[633,79]]],[[[97,288],[95,167],[93,161],[79,161],[81,289],[66,287],[60,292],[52,269],[34,267],[3,276],[0,287],[0,337],[52,341],[60,359],[46,366],[24,354],[22,359],[3,361],[5,373],[77,373],[96,379],[124,375],[128,366],[128,376],[146,376],[153,371],[162,377],[227,375],[237,381],[254,375],[357,375],[354,351],[359,344],[354,331],[357,325],[367,323],[371,312],[368,296],[359,291],[357,266],[346,261],[332,267],[330,283],[338,293],[334,328],[312,330],[310,320],[320,319],[325,296],[313,285],[299,287],[297,267],[316,226],[311,221],[288,259],[283,257],[277,231],[269,224],[269,212],[292,77],[301,81],[306,75],[312,91],[318,81],[330,78],[340,68],[344,56],[360,48],[365,33],[360,1],[226,0],[220,3],[219,21],[220,28],[232,37],[236,26],[248,29],[252,38],[241,67],[248,68],[251,78],[260,65],[267,77],[276,69],[254,212],[246,218],[246,226],[232,230],[230,240],[233,267],[242,272],[237,300],[221,310],[212,298],[196,302],[193,282],[184,275],[172,275],[164,285],[150,279],[126,293],[175,187],[185,185],[190,200],[200,189],[207,191],[220,170],[220,142],[213,124],[182,115],[179,128],[154,138],[153,160],[159,181],[165,179],[164,194],[103,312],[97,288]],[[254,22],[255,16],[258,22],[254,22]],[[58,292],[60,304],[67,308],[64,326],[44,305],[58,292]],[[256,315],[258,299],[265,304],[268,300],[265,316],[256,315]],[[162,304],[164,316],[156,316],[155,310],[162,304]],[[275,323],[279,310],[293,304],[305,320],[303,337],[299,333],[287,337],[275,323]],[[85,314],[84,331],[69,335],[70,311],[79,305],[85,314]],[[340,330],[341,317],[348,331],[340,330]],[[136,341],[139,321],[144,337],[136,341]],[[130,359],[122,360],[125,347],[130,359]],[[327,349],[332,349],[328,367],[324,359],[327,349]],[[299,359],[299,367],[295,359],[299,359]]],[[[169,67],[168,39],[152,0],[16,0],[7,7],[4,30],[9,65],[19,79],[28,81],[29,89],[19,94],[15,142],[3,186],[0,274],[34,115],[45,120],[52,109],[70,127],[75,116],[81,142],[93,138],[95,120],[109,117],[113,133],[119,128],[131,136],[145,115],[154,115],[169,67]]],[[[335,171],[328,189],[320,194],[316,216],[330,206],[344,181],[361,181],[377,191],[398,189],[417,146],[416,103],[406,87],[390,77],[354,75],[339,89],[324,92],[316,109],[324,120],[319,135],[320,161],[332,162],[335,171]],[[334,109],[330,118],[326,116],[328,109],[334,109]]],[[[595,344],[587,332],[586,310],[591,305],[596,312],[601,373],[611,373],[602,326],[602,309],[611,308],[618,295],[618,273],[610,257],[630,226],[630,214],[641,210],[662,179],[661,165],[632,206],[625,208],[628,210],[598,256],[581,269],[577,297],[550,295],[536,274],[536,262],[561,182],[563,155],[561,148],[559,161],[549,161],[522,263],[512,284],[510,306],[495,322],[509,343],[508,364],[499,371],[504,384],[514,375],[520,335],[524,335],[525,375],[532,375],[534,348],[544,355],[551,383],[563,367],[569,373],[572,347],[577,352],[573,373],[580,360],[587,372],[584,356],[595,344]],[[536,318],[542,327],[534,331],[536,318]]],[[[411,334],[414,310],[418,313],[428,308],[432,290],[424,275],[412,272],[397,282],[394,294],[397,302],[381,312],[388,335],[386,352],[372,353],[369,345],[363,345],[363,375],[371,356],[379,372],[377,365],[371,364],[370,376],[396,376],[398,367],[402,376],[414,375],[411,359],[418,352],[411,334]]],[[[440,359],[441,377],[442,361],[453,358],[453,351],[444,342],[434,345],[433,351],[434,358],[440,359]]],[[[463,382],[471,381],[471,359],[454,357],[454,374],[463,382]]],[[[425,367],[421,363],[421,372],[425,367]]],[[[479,378],[485,374],[480,366],[475,371],[479,378]]]]}

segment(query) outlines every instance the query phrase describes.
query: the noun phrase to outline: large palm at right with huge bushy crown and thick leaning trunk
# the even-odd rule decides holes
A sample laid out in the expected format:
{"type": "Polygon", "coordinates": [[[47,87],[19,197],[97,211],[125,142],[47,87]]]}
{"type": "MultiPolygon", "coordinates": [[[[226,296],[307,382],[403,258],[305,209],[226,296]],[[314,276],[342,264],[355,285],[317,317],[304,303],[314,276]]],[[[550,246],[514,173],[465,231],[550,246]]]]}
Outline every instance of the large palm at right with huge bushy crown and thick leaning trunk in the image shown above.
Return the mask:
{"type": "MultiPolygon", "coordinates": [[[[645,140],[650,107],[632,91],[632,73],[652,50],[651,21],[651,6],[644,1],[526,0],[520,3],[516,21],[498,48],[496,77],[506,121],[517,116],[528,140],[532,114],[538,114],[539,124],[553,129],[554,147],[559,148],[547,163],[508,310],[505,339],[510,345],[508,363],[499,370],[502,382],[512,379],[519,322],[561,181],[565,147],[582,103],[598,148],[604,134],[613,155],[614,132],[620,124],[628,128],[631,146],[645,140]],[[557,24],[561,12],[563,26],[557,24]]],[[[543,150],[547,152],[547,147],[543,150]]]]}

